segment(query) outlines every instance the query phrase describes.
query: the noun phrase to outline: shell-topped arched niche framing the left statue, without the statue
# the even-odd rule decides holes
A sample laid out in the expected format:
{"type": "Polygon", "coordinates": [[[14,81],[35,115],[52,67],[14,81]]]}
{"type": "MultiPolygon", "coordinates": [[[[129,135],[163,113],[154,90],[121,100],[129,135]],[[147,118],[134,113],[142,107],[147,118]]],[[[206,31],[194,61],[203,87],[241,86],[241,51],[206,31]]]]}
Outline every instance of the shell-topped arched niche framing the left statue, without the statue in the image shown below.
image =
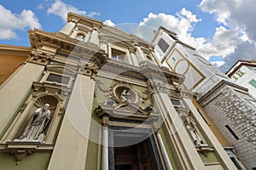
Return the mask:
{"type": "MultiPolygon", "coordinates": [[[[7,131],[4,133],[1,141],[3,143],[9,141],[19,141],[20,135],[25,129],[27,123],[32,117],[34,111],[42,107],[45,104],[49,104],[50,121],[45,129],[44,143],[54,144],[56,139],[56,134],[58,133],[61,118],[64,113],[63,103],[67,96],[61,95],[59,88],[49,88],[46,90],[49,83],[38,83],[34,82],[33,86],[35,91],[26,99],[26,101],[21,105],[20,111],[15,116],[14,120],[10,123],[7,131]],[[55,91],[54,91],[55,89],[55,91]]],[[[65,89],[62,89],[65,91],[65,89]]],[[[69,94],[65,92],[64,94],[69,94]]],[[[23,141],[20,141],[23,142],[23,141]]]]}

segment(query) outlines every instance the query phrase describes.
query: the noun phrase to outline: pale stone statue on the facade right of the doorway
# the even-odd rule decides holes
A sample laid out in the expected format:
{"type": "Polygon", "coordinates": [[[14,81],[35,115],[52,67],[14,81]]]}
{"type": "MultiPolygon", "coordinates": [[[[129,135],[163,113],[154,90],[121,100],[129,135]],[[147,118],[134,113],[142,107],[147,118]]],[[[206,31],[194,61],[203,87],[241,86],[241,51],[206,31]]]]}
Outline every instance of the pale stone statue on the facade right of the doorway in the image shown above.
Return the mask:
{"type": "Polygon", "coordinates": [[[197,133],[195,120],[189,115],[185,119],[185,127],[188,129],[192,139],[194,139],[194,144],[196,146],[204,144],[199,133],[197,133]]]}

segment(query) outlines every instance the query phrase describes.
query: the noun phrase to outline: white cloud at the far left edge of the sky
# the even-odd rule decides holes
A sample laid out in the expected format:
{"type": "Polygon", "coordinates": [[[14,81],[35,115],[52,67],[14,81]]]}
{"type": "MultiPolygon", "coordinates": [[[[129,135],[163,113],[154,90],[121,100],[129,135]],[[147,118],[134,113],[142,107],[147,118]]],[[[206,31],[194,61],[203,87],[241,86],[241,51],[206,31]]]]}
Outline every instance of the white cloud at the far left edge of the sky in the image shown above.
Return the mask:
{"type": "Polygon", "coordinates": [[[9,9],[0,5],[0,39],[17,38],[15,30],[41,28],[38,18],[31,10],[22,10],[13,14],[9,9]]]}

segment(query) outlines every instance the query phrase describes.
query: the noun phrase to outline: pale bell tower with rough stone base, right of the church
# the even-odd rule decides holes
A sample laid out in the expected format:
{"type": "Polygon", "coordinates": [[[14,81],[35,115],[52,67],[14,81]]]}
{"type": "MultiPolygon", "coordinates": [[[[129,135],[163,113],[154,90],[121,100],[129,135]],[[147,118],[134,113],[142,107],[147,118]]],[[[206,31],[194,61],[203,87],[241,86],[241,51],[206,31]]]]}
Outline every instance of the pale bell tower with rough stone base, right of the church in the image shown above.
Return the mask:
{"type": "MultiPolygon", "coordinates": [[[[227,140],[228,143],[222,143],[225,150],[231,153],[235,149],[245,167],[255,169],[256,109],[255,99],[248,89],[224,75],[198,54],[195,48],[180,41],[176,33],[164,27],[156,32],[152,44],[160,65],[185,77],[183,86],[196,94],[195,100],[227,140]]],[[[245,69],[253,71],[253,62],[247,62],[247,65],[251,67],[245,65],[245,69]]],[[[240,71],[240,67],[230,71],[240,71]]],[[[251,78],[251,85],[253,76],[247,78],[251,78]]],[[[211,127],[211,123],[207,124],[211,127]]],[[[236,156],[231,155],[232,161],[241,165],[236,156]]],[[[242,165],[237,167],[244,168],[242,165]]]]}

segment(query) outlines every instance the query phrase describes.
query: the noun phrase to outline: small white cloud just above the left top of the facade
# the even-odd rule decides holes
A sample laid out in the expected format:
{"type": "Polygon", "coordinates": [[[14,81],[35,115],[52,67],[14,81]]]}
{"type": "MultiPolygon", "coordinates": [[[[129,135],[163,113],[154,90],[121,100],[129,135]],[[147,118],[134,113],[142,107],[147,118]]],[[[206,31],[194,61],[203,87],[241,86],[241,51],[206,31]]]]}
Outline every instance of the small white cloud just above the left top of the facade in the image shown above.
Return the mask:
{"type": "MultiPolygon", "coordinates": [[[[63,21],[67,20],[67,13],[73,12],[76,14],[86,14],[86,11],[79,10],[78,8],[73,7],[73,5],[63,3],[61,0],[55,0],[55,3],[52,3],[47,9],[47,14],[55,14],[61,17],[63,21]]],[[[86,14],[89,17],[94,17],[100,15],[100,13],[90,12],[86,14]]]]}

